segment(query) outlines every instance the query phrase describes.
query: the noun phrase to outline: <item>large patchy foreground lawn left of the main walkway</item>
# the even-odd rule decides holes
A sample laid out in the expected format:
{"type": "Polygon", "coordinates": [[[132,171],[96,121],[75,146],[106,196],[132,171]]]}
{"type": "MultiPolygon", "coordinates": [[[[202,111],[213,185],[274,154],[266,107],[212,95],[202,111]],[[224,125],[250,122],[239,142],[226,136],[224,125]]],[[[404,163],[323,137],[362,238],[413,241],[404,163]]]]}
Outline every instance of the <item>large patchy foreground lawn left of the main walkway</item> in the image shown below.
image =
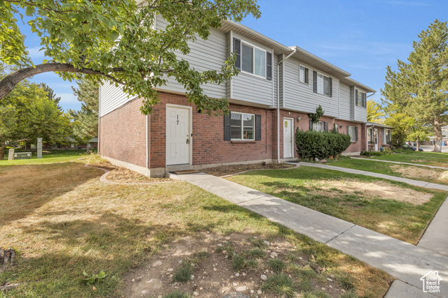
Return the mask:
{"type": "MultiPolygon", "coordinates": [[[[14,247],[18,256],[15,266],[0,275],[0,286],[19,285],[0,292],[0,296],[120,297],[134,284],[130,279],[139,277],[131,276],[128,281],[127,274],[139,268],[146,274],[149,265],[145,260],[163,258],[161,253],[176,245],[174,241],[202,241],[204,235],[223,244],[227,243],[221,241],[225,237],[241,239],[238,235],[244,235],[244,241],[263,239],[276,244],[288,241],[287,251],[279,255],[286,262],[282,269],[286,279],[288,283],[292,281],[289,291],[307,292],[311,296],[317,291],[319,297],[328,297],[330,292],[325,291],[330,291],[333,285],[333,289],[345,289],[346,297],[357,297],[352,292],[384,297],[393,280],[383,271],[191,184],[111,185],[99,181],[102,174],[102,170],[84,167],[81,161],[1,167],[0,244],[5,248],[14,247]],[[85,277],[83,271],[89,276],[104,271],[107,276],[102,282],[88,285],[80,281],[85,277]],[[332,278],[332,282],[327,278],[332,278]]],[[[262,245],[262,242],[256,244],[262,245]]],[[[188,245],[182,248],[194,249],[188,245]]],[[[209,249],[215,248],[216,243],[209,245],[209,249]]],[[[162,261],[161,267],[168,266],[166,259],[162,261]]],[[[216,272],[220,273],[224,265],[218,260],[216,263],[220,269],[216,272]]],[[[258,278],[264,271],[256,270],[267,265],[262,266],[254,269],[258,278]]],[[[180,267],[176,260],[171,268],[180,267]]],[[[165,272],[157,274],[167,276],[165,272]]],[[[235,272],[228,272],[227,278],[235,272]]],[[[207,273],[213,275],[214,270],[207,267],[207,273]]],[[[194,274],[206,276],[202,270],[194,274]]],[[[275,278],[271,273],[267,276],[270,282],[275,278]]],[[[144,275],[144,278],[151,281],[153,277],[144,275]]],[[[206,282],[207,278],[201,280],[206,282]]],[[[260,288],[262,284],[259,283],[260,288]]],[[[140,285],[148,283],[142,281],[140,285]]],[[[167,285],[157,295],[175,290],[172,283],[167,285]]],[[[214,297],[223,296],[221,287],[235,291],[232,281],[230,285],[225,281],[225,285],[217,283],[214,287],[214,297]]],[[[263,289],[273,290],[268,285],[263,289]]],[[[193,295],[193,285],[187,290],[188,295],[193,295]]],[[[280,292],[274,290],[263,296],[279,297],[280,292]]],[[[140,291],[137,297],[141,295],[140,291]]]]}

